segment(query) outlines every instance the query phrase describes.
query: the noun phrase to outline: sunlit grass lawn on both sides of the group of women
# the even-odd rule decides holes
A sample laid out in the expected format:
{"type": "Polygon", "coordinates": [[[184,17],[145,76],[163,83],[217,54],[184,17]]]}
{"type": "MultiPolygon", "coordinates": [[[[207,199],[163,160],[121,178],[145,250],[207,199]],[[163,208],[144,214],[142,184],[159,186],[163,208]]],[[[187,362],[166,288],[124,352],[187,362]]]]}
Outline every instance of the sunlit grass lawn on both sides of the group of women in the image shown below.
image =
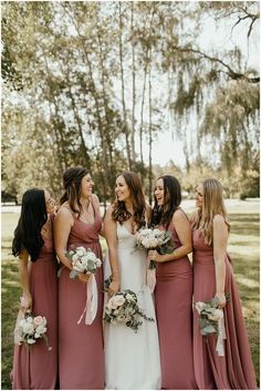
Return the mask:
{"type": "MultiPolygon", "coordinates": [[[[239,200],[233,204],[230,200],[228,212],[231,223],[229,253],[233,261],[259,382],[259,204],[253,206],[252,203],[239,200]]],[[[12,257],[10,248],[18,217],[17,213],[2,213],[2,390],[11,390],[9,373],[12,368],[13,328],[21,296],[18,261],[12,257]]]]}

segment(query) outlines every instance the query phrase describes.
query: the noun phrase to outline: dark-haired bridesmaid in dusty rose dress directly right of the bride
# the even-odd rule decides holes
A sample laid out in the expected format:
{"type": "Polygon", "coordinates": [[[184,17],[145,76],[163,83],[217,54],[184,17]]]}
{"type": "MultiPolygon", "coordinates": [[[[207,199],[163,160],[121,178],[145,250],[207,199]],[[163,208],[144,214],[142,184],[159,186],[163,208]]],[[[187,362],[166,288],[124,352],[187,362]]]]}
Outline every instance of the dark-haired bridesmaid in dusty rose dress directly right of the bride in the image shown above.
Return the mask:
{"type": "Polygon", "coordinates": [[[180,184],[170,175],[160,176],[155,186],[152,225],[171,233],[175,250],[159,255],[149,250],[157,263],[155,289],[161,359],[161,388],[196,389],[192,363],[192,267],[187,257],[191,251],[191,229],[179,207],[180,184]]]}

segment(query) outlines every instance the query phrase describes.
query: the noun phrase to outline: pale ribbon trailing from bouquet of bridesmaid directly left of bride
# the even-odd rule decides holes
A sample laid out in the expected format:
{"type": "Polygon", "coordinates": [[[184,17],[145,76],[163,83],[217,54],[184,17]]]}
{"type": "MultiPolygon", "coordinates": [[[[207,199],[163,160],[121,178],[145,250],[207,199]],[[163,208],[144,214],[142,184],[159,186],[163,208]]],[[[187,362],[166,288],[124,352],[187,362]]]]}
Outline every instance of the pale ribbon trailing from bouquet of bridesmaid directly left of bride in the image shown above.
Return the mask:
{"type": "Polygon", "coordinates": [[[97,313],[97,284],[94,275],[90,276],[86,284],[86,305],[77,325],[81,323],[85,313],[85,325],[92,325],[97,313]]]}

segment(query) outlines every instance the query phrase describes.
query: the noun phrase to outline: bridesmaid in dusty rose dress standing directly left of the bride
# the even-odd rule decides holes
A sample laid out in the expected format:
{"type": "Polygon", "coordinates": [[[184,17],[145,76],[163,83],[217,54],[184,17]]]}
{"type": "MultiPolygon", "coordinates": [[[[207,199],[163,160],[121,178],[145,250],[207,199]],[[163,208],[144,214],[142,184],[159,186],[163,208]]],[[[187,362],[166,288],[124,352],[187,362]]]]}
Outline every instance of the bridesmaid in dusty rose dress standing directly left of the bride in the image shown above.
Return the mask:
{"type": "Polygon", "coordinates": [[[83,246],[102,259],[98,234],[102,229],[100,204],[92,194],[93,182],[83,167],[69,168],[63,175],[65,193],[54,222],[56,254],[63,268],[59,279],[59,373],[63,390],[104,389],[103,351],[103,272],[97,268],[97,312],[85,323],[88,276],[70,278],[72,269],[65,250],[83,246]],[[83,315],[83,317],[81,317],[83,315]],[[80,318],[81,321],[80,321],[80,318]]]}

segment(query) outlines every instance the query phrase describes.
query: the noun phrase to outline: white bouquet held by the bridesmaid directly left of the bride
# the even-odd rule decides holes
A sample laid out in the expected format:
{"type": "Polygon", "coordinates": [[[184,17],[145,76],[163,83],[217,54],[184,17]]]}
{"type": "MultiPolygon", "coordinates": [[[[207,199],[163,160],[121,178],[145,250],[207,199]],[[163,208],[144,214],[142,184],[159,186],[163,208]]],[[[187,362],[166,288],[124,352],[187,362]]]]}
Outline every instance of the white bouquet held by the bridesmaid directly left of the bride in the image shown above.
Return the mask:
{"type": "Polygon", "coordinates": [[[83,246],[71,249],[66,253],[66,257],[73,266],[71,278],[75,278],[80,272],[94,274],[96,268],[102,266],[102,260],[90,248],[83,246]]]}

